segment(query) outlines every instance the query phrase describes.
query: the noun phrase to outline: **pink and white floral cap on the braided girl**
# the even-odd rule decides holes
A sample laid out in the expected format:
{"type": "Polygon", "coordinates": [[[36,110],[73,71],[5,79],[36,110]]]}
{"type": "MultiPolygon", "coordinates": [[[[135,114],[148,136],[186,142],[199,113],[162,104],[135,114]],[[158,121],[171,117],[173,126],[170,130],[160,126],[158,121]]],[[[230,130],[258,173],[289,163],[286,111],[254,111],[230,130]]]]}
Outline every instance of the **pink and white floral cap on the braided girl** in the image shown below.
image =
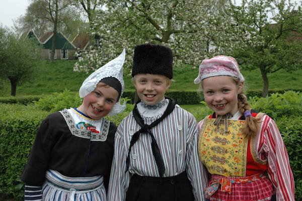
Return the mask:
{"type": "Polygon", "coordinates": [[[194,80],[195,84],[202,80],[215,76],[232,76],[244,82],[238,63],[232,56],[218,55],[210,59],[204,59],[199,65],[199,75],[194,80]]]}

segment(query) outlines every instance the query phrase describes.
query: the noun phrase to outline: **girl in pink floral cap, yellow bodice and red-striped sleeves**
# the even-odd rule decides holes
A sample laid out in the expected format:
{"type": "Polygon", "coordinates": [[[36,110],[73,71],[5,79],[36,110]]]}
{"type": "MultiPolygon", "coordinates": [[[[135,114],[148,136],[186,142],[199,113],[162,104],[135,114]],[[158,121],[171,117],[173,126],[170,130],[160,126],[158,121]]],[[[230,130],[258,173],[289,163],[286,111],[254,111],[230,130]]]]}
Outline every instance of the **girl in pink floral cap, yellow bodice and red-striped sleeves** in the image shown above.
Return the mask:
{"type": "Polygon", "coordinates": [[[294,200],[288,155],[274,120],[251,109],[235,58],[205,59],[194,80],[213,114],[199,122],[207,200],[294,200]]]}

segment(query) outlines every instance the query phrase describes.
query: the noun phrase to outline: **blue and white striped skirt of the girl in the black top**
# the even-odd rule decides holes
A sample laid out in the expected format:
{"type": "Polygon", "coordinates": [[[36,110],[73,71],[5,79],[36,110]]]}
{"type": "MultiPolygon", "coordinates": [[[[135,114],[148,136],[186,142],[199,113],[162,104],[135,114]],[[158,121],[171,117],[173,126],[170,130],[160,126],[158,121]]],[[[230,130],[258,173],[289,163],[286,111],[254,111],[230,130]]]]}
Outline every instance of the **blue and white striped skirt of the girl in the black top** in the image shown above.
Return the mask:
{"type": "Polygon", "coordinates": [[[55,170],[46,172],[43,201],[106,201],[103,176],[67,177],[55,170]]]}

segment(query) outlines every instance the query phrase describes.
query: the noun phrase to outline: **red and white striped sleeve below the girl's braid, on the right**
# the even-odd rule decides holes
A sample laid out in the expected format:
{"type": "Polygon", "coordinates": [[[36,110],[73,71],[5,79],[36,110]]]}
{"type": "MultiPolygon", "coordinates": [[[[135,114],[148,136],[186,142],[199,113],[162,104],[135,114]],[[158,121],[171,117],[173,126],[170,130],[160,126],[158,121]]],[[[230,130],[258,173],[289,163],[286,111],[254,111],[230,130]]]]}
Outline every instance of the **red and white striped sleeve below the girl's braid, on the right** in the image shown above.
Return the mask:
{"type": "Polygon", "coordinates": [[[267,115],[263,116],[260,129],[263,133],[263,149],[267,154],[268,175],[276,189],[276,200],[292,201],[294,180],[279,129],[275,121],[267,115]]]}

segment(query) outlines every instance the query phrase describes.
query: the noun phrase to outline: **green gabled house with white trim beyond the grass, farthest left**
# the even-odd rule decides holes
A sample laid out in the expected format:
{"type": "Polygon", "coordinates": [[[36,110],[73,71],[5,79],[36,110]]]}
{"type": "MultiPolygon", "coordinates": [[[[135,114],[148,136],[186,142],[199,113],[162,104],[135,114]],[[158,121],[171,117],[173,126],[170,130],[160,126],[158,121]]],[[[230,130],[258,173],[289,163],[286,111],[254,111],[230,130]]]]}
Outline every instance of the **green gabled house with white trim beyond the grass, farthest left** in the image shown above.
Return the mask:
{"type": "MultiPolygon", "coordinates": [[[[39,38],[43,45],[43,58],[50,59],[53,32],[47,32],[39,38]]],[[[56,34],[54,59],[75,59],[77,48],[61,33],[56,34]]]]}

